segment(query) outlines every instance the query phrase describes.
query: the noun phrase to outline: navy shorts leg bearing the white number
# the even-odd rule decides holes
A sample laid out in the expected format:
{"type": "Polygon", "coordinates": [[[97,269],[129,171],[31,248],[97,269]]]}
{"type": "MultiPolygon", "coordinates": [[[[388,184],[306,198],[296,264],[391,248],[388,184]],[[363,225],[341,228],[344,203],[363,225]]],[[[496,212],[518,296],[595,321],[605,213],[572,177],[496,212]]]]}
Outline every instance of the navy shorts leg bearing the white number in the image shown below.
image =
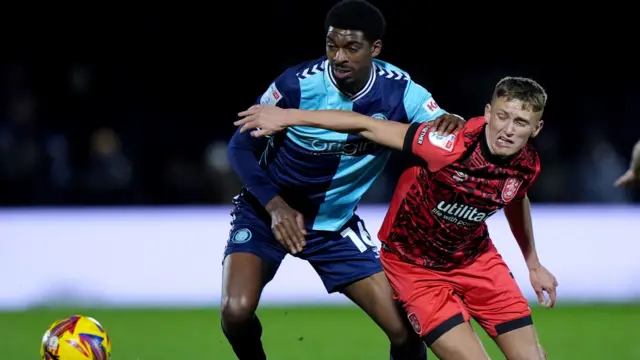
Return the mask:
{"type": "Polygon", "coordinates": [[[309,232],[298,257],[309,261],[329,293],[382,272],[379,249],[357,216],[340,231],[309,232]]]}

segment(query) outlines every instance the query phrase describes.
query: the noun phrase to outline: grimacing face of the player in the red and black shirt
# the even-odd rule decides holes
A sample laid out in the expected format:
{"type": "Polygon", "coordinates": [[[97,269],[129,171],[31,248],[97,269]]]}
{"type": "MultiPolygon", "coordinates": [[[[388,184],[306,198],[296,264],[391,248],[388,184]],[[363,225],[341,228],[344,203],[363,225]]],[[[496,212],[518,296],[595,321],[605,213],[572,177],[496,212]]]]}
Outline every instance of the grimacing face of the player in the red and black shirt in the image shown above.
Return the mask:
{"type": "Polygon", "coordinates": [[[521,100],[493,99],[485,107],[484,117],[489,148],[499,156],[517,153],[542,130],[542,111],[534,112],[521,100]]]}

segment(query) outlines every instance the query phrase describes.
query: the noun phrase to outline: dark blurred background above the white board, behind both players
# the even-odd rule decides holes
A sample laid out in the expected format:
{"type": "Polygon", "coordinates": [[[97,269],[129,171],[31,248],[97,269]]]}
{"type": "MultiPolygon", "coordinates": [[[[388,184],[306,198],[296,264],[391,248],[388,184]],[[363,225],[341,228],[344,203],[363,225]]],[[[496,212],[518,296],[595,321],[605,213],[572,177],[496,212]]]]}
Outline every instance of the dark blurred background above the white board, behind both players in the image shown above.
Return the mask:
{"type": "MultiPolygon", "coordinates": [[[[0,203],[229,203],[240,185],[226,160],[235,114],[286,67],[323,54],[333,3],[6,12],[0,203]]],[[[374,3],[388,22],[381,59],[450,112],[480,115],[507,75],[546,87],[533,200],[638,200],[612,187],[640,138],[623,9],[606,24],[539,3],[374,3]]],[[[397,172],[388,167],[365,201],[387,201],[397,172]]]]}

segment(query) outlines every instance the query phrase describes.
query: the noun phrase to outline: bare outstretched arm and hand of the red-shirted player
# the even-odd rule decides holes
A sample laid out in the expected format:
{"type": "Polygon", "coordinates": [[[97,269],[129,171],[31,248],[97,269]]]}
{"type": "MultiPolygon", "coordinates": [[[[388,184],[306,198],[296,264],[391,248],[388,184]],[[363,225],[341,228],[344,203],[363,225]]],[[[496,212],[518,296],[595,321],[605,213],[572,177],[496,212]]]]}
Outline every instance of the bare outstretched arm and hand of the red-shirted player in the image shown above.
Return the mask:
{"type": "Polygon", "coordinates": [[[392,149],[402,150],[409,124],[374,119],[343,110],[281,109],[255,105],[238,114],[241,132],[252,130],[255,137],[268,136],[291,126],[309,126],[344,133],[355,133],[392,149]],[[255,130],[254,130],[255,129],[255,130]]]}

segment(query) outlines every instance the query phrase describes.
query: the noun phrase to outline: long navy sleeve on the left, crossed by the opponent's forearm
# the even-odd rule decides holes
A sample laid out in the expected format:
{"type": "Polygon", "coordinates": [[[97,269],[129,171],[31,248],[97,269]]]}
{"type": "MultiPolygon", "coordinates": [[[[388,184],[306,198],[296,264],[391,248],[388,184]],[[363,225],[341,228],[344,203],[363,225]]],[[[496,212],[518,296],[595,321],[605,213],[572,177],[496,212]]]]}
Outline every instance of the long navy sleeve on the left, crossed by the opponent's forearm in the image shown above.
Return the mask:
{"type": "MultiPolygon", "coordinates": [[[[298,108],[300,83],[295,71],[290,69],[280,75],[256,103],[284,109],[298,108]]],[[[249,132],[241,134],[239,131],[236,131],[229,142],[229,162],[233,170],[263,206],[278,195],[278,188],[260,165],[260,159],[268,143],[268,138],[254,138],[249,132]]]]}

